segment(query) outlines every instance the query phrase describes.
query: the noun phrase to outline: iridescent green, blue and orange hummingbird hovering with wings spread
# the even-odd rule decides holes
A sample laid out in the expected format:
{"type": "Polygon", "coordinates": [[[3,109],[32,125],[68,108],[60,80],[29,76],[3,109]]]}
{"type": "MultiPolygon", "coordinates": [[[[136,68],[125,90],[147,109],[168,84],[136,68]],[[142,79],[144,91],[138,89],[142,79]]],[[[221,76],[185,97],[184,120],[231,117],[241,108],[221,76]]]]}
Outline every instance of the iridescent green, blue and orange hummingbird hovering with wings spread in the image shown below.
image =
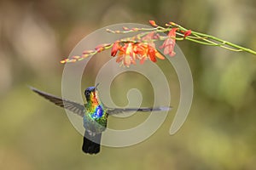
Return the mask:
{"type": "Polygon", "coordinates": [[[72,111],[83,117],[83,125],[85,128],[84,140],[82,145],[82,150],[86,154],[97,154],[101,150],[101,139],[102,133],[107,128],[108,116],[131,112],[131,111],[170,111],[172,107],[141,107],[141,108],[109,108],[103,105],[98,97],[97,86],[89,87],[84,90],[84,96],[86,103],[84,105],[77,102],[71,101],[69,99],[62,99],[53,94],[48,94],[37,88],[32,88],[32,91],[39,94],[40,96],[53,102],[62,108],[72,111]]]}

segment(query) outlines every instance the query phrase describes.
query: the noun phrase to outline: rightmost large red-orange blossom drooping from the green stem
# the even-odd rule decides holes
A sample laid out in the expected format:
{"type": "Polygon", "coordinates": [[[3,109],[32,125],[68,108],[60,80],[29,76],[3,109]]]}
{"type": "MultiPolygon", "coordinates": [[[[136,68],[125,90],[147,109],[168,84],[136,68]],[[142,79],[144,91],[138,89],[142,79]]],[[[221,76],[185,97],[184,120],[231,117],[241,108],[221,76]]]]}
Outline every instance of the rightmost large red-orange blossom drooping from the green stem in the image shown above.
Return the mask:
{"type": "Polygon", "coordinates": [[[176,31],[178,28],[172,28],[171,31],[168,33],[168,37],[163,45],[160,48],[164,48],[164,54],[168,54],[169,56],[173,57],[176,53],[174,52],[174,46],[176,43],[176,31]]]}

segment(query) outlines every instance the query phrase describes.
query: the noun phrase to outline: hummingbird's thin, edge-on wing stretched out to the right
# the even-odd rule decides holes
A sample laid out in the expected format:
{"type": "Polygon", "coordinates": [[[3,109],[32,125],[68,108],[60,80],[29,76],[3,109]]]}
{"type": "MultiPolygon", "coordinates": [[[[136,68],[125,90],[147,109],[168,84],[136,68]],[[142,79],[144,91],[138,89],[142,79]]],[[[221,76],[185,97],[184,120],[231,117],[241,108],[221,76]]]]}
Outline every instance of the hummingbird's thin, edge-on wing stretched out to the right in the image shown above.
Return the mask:
{"type": "Polygon", "coordinates": [[[107,108],[108,115],[115,115],[119,113],[125,113],[125,112],[131,112],[131,111],[142,111],[142,112],[148,112],[148,111],[171,111],[172,107],[141,107],[141,108],[107,108]]]}

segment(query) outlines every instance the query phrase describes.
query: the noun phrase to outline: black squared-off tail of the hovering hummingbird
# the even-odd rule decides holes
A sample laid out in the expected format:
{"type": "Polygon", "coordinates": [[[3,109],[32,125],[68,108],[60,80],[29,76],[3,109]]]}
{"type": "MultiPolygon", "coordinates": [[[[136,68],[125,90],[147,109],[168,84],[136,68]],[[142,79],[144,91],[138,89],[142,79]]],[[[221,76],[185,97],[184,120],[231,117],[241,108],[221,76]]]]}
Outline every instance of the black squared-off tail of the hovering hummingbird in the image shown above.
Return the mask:
{"type": "Polygon", "coordinates": [[[101,150],[102,133],[92,133],[85,130],[82,150],[86,154],[97,154],[101,150]]]}

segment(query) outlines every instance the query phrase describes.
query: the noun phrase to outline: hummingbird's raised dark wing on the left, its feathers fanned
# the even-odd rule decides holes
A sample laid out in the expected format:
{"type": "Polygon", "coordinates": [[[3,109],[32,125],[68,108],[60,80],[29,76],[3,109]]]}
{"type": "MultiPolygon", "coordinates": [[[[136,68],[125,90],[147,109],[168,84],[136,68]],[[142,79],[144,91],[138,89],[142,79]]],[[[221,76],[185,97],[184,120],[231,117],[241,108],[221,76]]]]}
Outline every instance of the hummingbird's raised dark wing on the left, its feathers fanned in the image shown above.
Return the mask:
{"type": "Polygon", "coordinates": [[[47,94],[45,92],[38,90],[37,88],[30,88],[33,92],[39,94],[40,96],[43,96],[45,99],[49,99],[49,101],[53,102],[55,105],[61,106],[67,109],[68,111],[72,111],[73,113],[78,114],[79,116],[84,116],[84,105],[81,105],[73,101],[69,101],[68,99],[61,99],[52,94],[47,94]]]}

